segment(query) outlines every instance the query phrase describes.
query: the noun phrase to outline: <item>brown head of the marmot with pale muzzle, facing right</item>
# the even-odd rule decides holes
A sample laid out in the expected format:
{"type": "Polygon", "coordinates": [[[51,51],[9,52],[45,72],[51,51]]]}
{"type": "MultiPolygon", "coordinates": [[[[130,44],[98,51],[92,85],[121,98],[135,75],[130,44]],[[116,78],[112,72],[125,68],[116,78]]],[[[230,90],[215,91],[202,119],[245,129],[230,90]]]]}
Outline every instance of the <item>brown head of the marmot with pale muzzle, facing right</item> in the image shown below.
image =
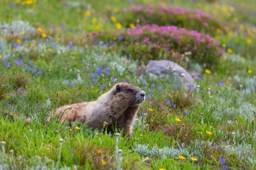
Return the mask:
{"type": "Polygon", "coordinates": [[[146,93],[141,88],[129,83],[115,84],[112,89],[119,102],[128,102],[127,105],[129,106],[139,105],[146,98],[146,93]]]}

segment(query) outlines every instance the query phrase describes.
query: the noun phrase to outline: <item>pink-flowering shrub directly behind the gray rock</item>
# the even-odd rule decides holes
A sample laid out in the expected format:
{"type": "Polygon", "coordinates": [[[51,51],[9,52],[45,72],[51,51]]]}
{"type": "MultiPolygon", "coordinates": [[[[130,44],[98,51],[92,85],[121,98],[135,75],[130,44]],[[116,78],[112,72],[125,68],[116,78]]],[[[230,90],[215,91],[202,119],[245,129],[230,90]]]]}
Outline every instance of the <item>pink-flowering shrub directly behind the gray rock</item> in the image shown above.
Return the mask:
{"type": "Polygon", "coordinates": [[[207,68],[211,68],[219,65],[223,54],[219,43],[209,35],[177,26],[136,26],[127,31],[101,33],[97,38],[113,41],[109,50],[121,49],[124,54],[144,62],[150,59],[177,61],[183,53],[190,52],[192,62],[206,63],[207,68]]]}

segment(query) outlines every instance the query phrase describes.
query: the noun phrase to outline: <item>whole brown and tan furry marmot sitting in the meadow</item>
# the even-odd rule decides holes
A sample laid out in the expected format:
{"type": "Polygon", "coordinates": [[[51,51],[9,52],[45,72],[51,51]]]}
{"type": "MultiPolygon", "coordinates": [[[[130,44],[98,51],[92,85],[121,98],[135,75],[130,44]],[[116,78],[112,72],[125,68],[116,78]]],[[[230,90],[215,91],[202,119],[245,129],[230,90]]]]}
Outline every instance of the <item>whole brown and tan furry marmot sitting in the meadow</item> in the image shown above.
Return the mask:
{"type": "MultiPolygon", "coordinates": [[[[132,126],[136,119],[141,102],[144,102],[146,93],[141,88],[128,83],[115,84],[110,91],[101,95],[96,101],[64,105],[52,111],[52,115],[59,115],[60,121],[71,122],[79,120],[92,128],[103,128],[117,122],[117,128],[124,128],[128,137],[132,134],[132,126]],[[64,112],[64,113],[63,113],[64,112]]],[[[48,117],[49,120],[49,117],[48,117]]]]}

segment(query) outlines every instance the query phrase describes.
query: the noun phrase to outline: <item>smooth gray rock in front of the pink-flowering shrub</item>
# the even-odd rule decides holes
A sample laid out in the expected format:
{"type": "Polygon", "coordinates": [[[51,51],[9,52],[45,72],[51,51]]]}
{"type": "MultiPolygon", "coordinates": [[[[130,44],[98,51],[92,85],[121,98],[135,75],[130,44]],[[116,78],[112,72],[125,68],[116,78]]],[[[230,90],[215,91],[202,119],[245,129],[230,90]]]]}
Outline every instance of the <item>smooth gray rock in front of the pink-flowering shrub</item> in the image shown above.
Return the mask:
{"type": "Polygon", "coordinates": [[[179,77],[183,86],[190,85],[194,88],[196,87],[195,80],[190,75],[190,73],[187,72],[185,68],[175,62],[169,60],[149,60],[147,65],[148,67],[146,69],[146,72],[149,73],[149,75],[152,77],[158,77],[159,75],[176,75],[175,77],[179,77]]]}

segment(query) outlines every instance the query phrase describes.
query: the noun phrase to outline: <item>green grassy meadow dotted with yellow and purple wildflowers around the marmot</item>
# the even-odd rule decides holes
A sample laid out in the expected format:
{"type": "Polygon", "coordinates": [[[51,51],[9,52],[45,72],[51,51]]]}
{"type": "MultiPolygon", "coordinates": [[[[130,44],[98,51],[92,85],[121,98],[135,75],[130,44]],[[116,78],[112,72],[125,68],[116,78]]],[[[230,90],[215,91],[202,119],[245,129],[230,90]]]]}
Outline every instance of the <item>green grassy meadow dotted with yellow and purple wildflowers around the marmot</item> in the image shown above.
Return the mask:
{"type": "Polygon", "coordinates": [[[256,10],[248,5],[252,0],[106,0],[104,5],[78,0],[78,6],[71,0],[13,2],[1,2],[0,21],[17,25],[21,15],[21,20],[31,24],[20,21],[13,32],[4,31],[0,24],[0,169],[255,169],[254,32],[216,35],[214,39],[226,44],[225,51],[230,48],[232,52],[225,52],[220,68],[211,73],[204,72],[204,66],[190,64],[200,77],[195,79],[195,89],[180,86],[169,75],[138,75],[141,66],[122,55],[122,49],[109,52],[108,46],[92,48],[86,41],[91,31],[116,31],[110,16],[119,15],[118,10],[151,2],[205,12],[211,8],[213,14],[220,10],[223,13],[216,15],[228,23],[230,31],[248,32],[255,26],[252,15],[245,17],[246,11],[256,10]],[[228,16],[221,5],[230,3],[234,13],[228,16]],[[91,16],[83,16],[88,11],[91,16]],[[232,21],[234,17],[237,22],[232,21]],[[247,28],[239,28],[241,24],[247,28]],[[38,27],[43,31],[36,31],[38,27]],[[57,106],[96,100],[114,83],[124,81],[147,95],[130,140],[122,131],[119,136],[115,130],[107,133],[85,124],[78,127],[77,121],[71,128],[57,121],[45,122],[57,106]]]}

